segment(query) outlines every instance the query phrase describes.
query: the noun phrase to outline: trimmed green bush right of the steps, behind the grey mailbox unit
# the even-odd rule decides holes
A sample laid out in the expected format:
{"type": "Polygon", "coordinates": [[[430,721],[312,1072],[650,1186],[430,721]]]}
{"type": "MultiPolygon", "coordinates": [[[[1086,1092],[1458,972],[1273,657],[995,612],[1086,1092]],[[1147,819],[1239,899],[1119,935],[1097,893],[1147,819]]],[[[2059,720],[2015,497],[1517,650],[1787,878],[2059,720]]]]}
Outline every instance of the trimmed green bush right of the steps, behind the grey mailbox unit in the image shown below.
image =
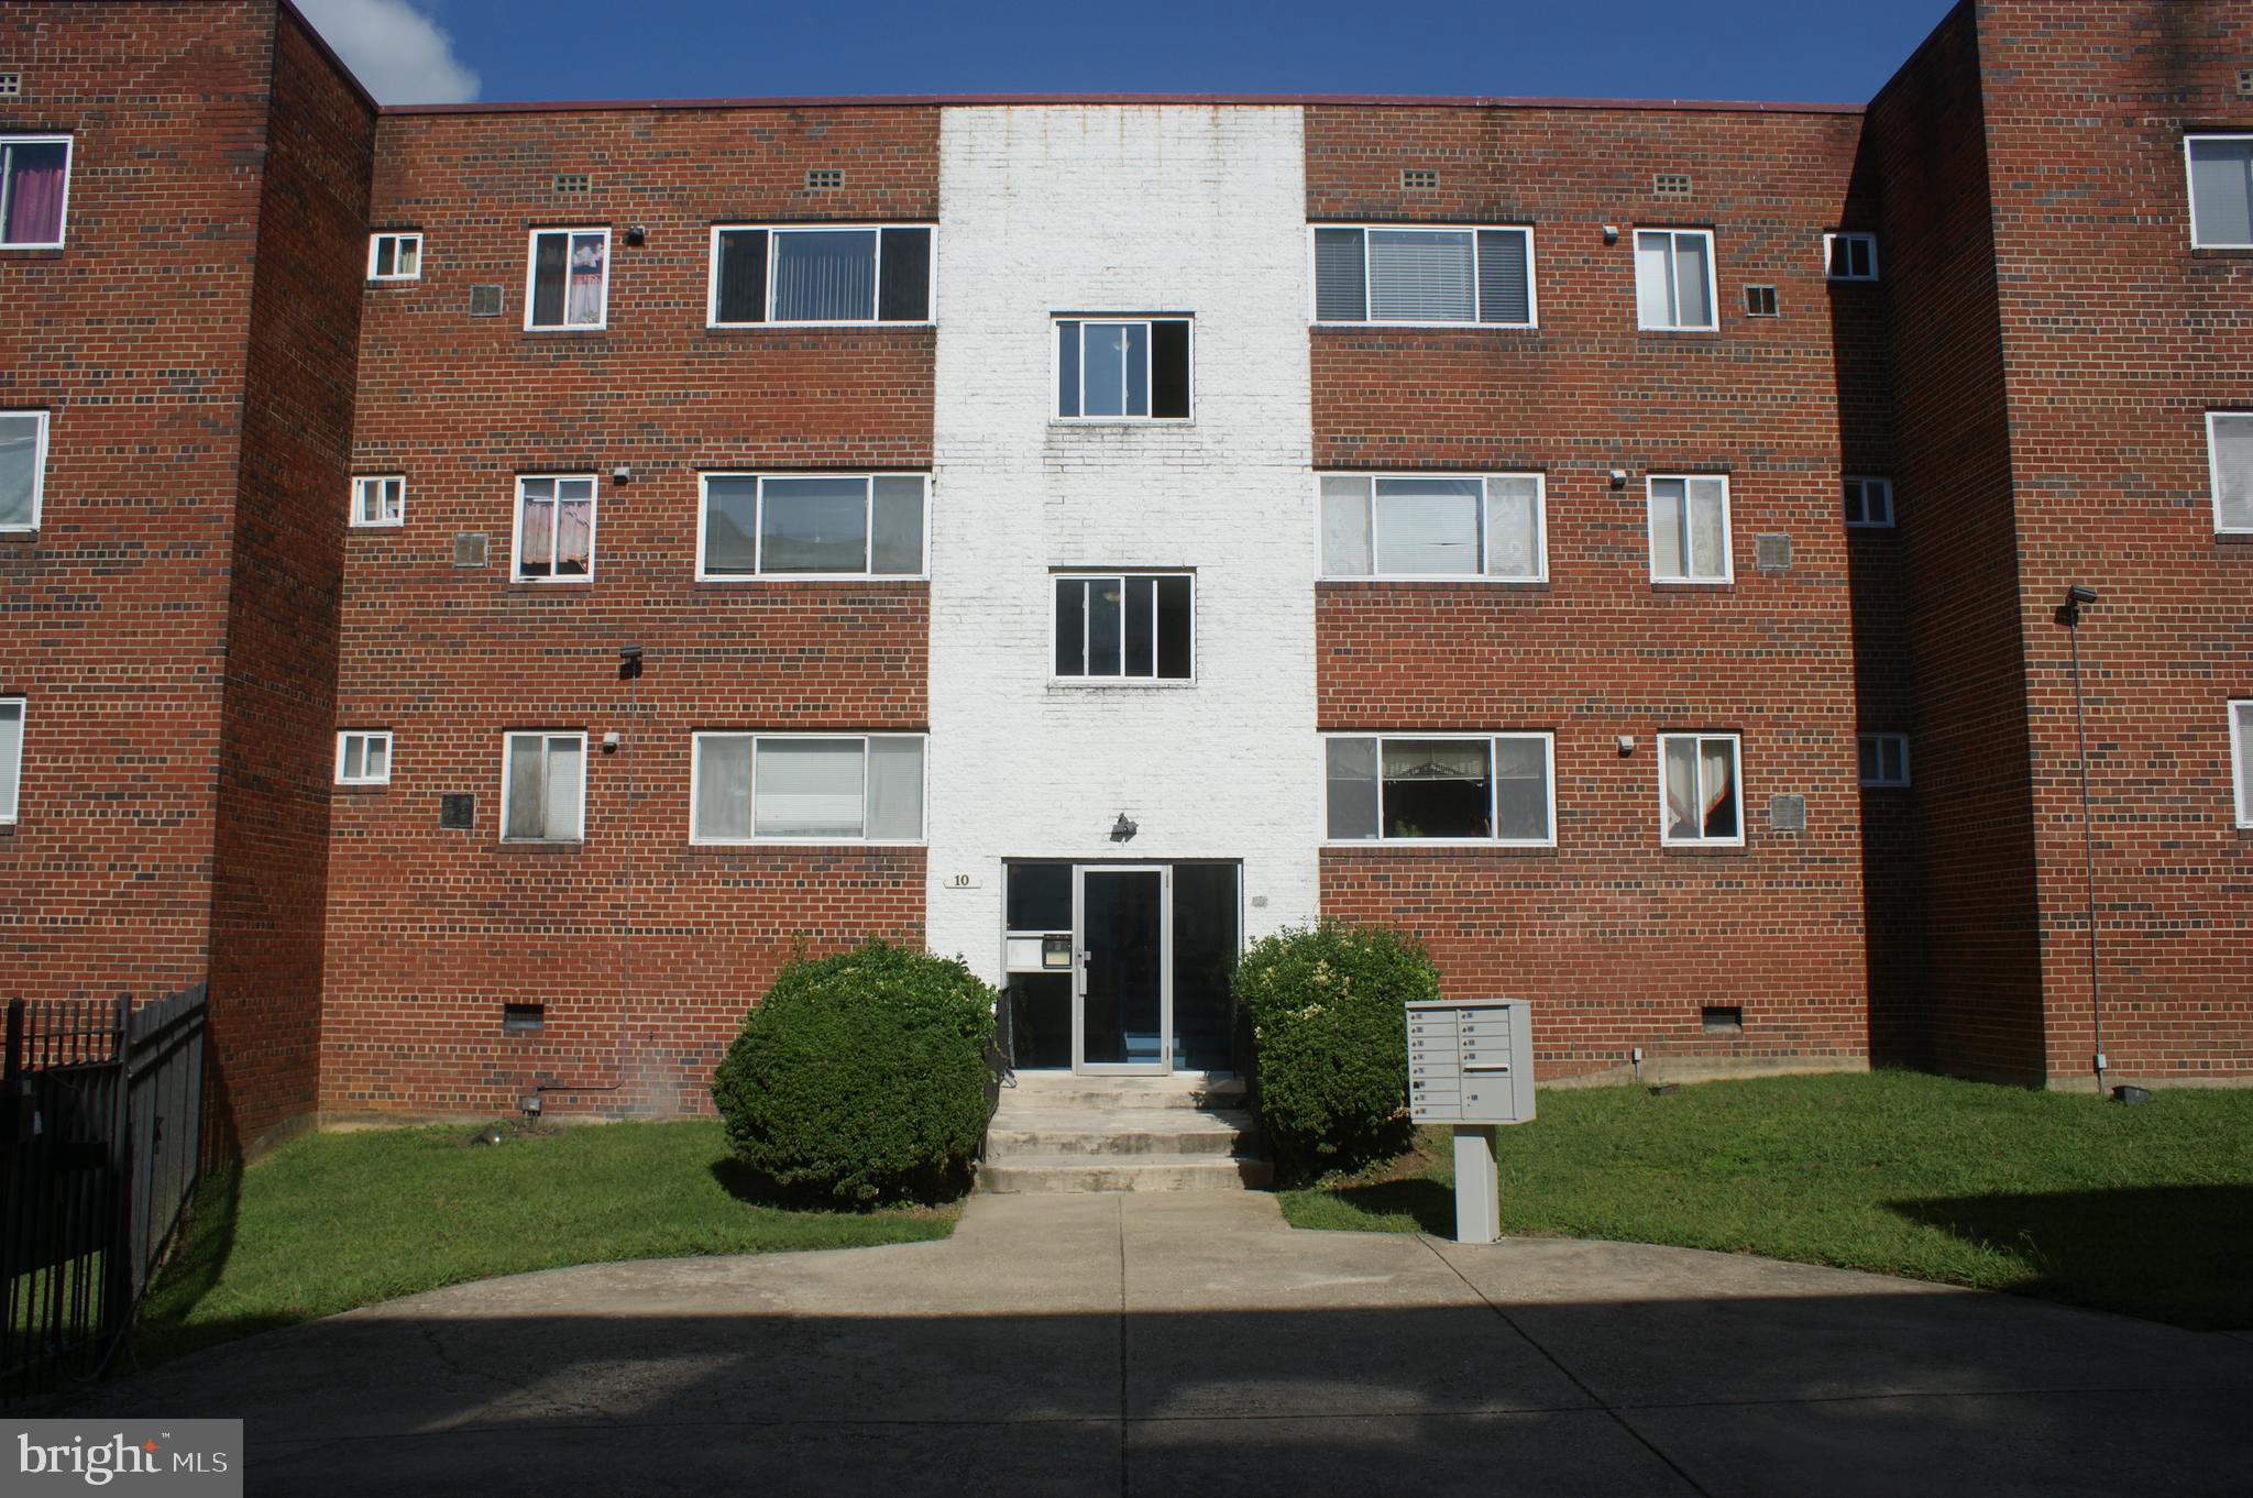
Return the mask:
{"type": "Polygon", "coordinates": [[[1341,921],[1282,930],[1244,953],[1232,987],[1253,1029],[1253,1111],[1284,1176],[1406,1149],[1401,1007],[1440,998],[1440,973],[1413,937],[1341,921]]]}

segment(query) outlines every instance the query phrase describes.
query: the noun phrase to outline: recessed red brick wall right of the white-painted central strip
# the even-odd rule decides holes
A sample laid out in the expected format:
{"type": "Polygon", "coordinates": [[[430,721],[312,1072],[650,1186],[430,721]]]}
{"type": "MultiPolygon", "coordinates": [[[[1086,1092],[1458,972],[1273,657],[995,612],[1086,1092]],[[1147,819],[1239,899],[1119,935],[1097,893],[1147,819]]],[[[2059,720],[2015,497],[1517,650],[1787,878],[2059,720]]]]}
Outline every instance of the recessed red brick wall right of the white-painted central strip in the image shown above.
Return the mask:
{"type": "Polygon", "coordinates": [[[1546,1077],[1620,1065],[1631,1045],[1868,1056],[1838,475],[1884,356],[1838,331],[1868,327],[1850,304],[1870,291],[1823,279],[1823,232],[1868,214],[1859,128],[1852,113],[1307,113],[1311,219],[1534,225],[1539,331],[1313,331],[1313,457],[1543,469],[1548,586],[1329,583],[1316,651],[1325,730],[1557,734],[1555,851],[1323,854],[1325,912],[1415,930],[1455,991],[1537,1000],[1546,1077]],[[1440,191],[1401,194],[1401,167],[1437,167],[1440,191]],[[1687,171],[1694,196],[1654,198],[1660,171],[1687,171]],[[1715,228],[1719,333],[1636,331],[1638,223],[1715,228]],[[1782,318],[1746,318],[1746,284],[1778,286],[1782,318]],[[1642,480],[1676,471],[1730,475],[1728,588],[1649,583],[1642,480]],[[1784,574],[1753,563],[1769,532],[1791,536],[1784,574]],[[1744,734],[1744,849],[1658,842],[1654,734],[1697,728],[1744,734]],[[1775,793],[1807,797],[1802,836],[1769,829],[1775,793]],[[1742,1005],[1744,1036],[1708,1036],[1703,1005],[1742,1005]]]}

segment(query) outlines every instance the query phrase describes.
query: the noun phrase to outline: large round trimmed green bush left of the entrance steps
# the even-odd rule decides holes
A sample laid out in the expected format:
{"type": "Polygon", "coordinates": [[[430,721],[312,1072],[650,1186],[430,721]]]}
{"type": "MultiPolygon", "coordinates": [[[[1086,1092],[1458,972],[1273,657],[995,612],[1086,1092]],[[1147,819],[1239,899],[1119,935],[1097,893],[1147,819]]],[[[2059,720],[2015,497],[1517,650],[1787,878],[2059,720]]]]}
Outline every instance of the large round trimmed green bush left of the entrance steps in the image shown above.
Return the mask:
{"type": "Polygon", "coordinates": [[[867,942],[798,960],[712,1079],[728,1144],[780,1194],[940,1201],[987,1126],[994,989],[960,962],[867,942]]]}

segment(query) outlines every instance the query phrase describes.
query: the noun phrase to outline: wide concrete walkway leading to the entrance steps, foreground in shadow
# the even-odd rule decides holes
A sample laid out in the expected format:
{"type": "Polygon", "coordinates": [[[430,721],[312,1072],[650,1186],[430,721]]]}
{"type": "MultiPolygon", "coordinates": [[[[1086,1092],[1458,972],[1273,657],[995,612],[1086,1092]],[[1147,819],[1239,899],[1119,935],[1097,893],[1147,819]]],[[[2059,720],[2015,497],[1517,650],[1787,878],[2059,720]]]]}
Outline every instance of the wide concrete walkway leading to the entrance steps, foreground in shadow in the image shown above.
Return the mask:
{"type": "Polygon", "coordinates": [[[552,1270],[185,1358],[252,1493],[2244,1493],[2253,1338],[1622,1243],[982,1196],[944,1243],[552,1270]]]}

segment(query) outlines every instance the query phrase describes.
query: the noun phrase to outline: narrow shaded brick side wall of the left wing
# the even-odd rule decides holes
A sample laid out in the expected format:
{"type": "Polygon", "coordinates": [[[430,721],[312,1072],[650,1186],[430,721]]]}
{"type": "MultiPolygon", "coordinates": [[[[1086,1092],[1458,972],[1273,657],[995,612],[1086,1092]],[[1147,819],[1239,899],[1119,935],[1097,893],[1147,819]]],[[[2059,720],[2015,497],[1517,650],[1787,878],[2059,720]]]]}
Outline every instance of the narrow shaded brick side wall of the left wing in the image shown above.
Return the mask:
{"type": "Polygon", "coordinates": [[[295,14],[275,38],[212,894],[212,1014],[239,1135],[320,1093],[336,606],[376,110],[295,14]]]}

